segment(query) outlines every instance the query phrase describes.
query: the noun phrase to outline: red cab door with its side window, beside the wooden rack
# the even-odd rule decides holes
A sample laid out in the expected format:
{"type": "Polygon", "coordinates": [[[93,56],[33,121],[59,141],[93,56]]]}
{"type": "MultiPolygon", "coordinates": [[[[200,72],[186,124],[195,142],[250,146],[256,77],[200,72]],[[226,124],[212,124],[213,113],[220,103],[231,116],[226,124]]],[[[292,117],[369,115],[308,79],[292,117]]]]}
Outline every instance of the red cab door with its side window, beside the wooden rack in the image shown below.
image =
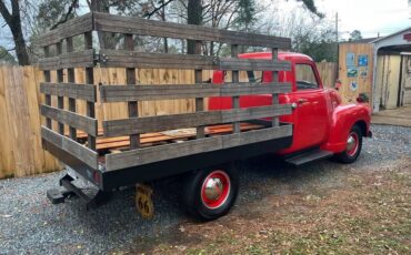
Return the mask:
{"type": "Polygon", "coordinates": [[[290,116],[294,124],[293,144],[287,153],[320,145],[329,132],[328,92],[322,89],[313,63],[295,62],[293,73],[293,91],[288,94],[288,101],[293,105],[290,116]]]}

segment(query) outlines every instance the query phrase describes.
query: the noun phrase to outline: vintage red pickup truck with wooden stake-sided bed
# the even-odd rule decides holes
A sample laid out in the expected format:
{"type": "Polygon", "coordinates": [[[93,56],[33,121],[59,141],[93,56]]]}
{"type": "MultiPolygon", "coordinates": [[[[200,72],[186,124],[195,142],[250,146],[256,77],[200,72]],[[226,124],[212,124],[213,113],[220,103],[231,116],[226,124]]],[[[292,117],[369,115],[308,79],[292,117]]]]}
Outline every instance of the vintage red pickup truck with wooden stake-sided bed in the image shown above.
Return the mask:
{"type": "MultiPolygon", "coordinates": [[[[351,163],[362,137],[371,135],[370,108],[361,100],[342,104],[335,90],[323,89],[309,57],[279,51],[290,49],[287,38],[92,12],[37,43],[44,49],[42,143],[70,172],[60,180],[63,188],[47,192],[54,204],[77,195],[94,207],[119,187],[174,175],[182,180],[186,210],[213,220],[235,201],[233,165],[242,160],[272,154],[293,165],[328,156],[351,163]],[[96,47],[93,32],[123,34],[123,48],[96,47]],[[197,54],[136,51],[136,35],[188,40],[197,54]],[[80,50],[74,37],[82,37],[80,50]],[[210,42],[229,44],[231,58],[201,54],[210,42]],[[239,54],[239,45],[268,52],[239,54]],[[83,70],[83,79],[74,68],[83,70]],[[127,83],[99,84],[94,70],[103,68],[126,69],[127,83]],[[192,70],[194,83],[137,84],[136,69],[153,68],[192,70]],[[203,70],[214,70],[211,81],[203,81],[203,70]],[[139,115],[141,102],[164,99],[194,99],[196,111],[139,115]],[[78,101],[86,102],[84,111],[78,101]],[[97,118],[96,108],[104,111],[101,105],[119,102],[128,105],[128,118],[97,118]],[[76,185],[78,177],[98,193],[86,194],[76,185]]],[[[139,208],[151,211],[147,196],[140,198],[139,208]]]]}

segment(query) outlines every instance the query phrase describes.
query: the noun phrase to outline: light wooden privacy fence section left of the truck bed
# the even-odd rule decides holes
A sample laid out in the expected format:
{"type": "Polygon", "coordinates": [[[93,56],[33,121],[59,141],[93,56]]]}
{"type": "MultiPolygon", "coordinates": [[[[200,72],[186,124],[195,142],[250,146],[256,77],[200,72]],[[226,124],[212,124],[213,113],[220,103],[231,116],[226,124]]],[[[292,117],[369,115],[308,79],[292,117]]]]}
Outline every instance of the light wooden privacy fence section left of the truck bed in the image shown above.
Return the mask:
{"type": "Polygon", "coordinates": [[[0,67],[0,178],[59,167],[41,147],[41,73],[32,67],[0,67]]]}

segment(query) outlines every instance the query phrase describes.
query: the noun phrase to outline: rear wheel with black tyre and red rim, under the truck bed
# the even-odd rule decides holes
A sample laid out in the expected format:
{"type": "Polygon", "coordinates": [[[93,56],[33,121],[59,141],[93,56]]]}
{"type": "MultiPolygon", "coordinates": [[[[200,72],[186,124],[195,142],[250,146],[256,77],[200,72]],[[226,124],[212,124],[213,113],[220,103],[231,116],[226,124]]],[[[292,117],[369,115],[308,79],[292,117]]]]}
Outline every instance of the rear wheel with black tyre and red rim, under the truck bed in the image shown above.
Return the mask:
{"type": "Polygon", "coordinates": [[[233,167],[213,167],[190,173],[184,183],[183,205],[198,220],[225,215],[234,204],[239,182],[233,167]]]}

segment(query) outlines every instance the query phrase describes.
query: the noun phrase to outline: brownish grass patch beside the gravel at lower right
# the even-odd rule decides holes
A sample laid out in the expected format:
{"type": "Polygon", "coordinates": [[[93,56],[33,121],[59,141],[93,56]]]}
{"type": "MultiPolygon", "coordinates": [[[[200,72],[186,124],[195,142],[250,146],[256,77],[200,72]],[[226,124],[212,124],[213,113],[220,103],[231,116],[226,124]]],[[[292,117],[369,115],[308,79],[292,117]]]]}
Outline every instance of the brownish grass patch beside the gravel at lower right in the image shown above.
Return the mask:
{"type": "Polygon", "coordinates": [[[184,251],[154,245],[148,253],[410,254],[410,166],[350,173],[339,190],[268,195],[215,222],[187,224],[179,234],[199,242],[184,251]]]}

